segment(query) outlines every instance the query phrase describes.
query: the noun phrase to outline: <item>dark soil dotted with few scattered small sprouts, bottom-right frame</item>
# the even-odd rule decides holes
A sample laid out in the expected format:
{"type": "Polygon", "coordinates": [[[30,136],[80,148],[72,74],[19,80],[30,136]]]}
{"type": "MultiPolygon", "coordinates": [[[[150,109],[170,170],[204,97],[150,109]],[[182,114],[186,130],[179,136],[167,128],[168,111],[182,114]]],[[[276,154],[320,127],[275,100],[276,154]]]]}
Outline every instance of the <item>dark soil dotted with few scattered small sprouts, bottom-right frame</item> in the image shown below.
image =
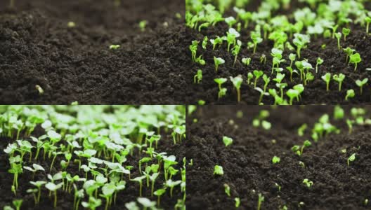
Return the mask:
{"type": "MultiPolygon", "coordinates": [[[[343,107],[350,109],[349,106],[343,107]]],[[[348,134],[345,120],[332,120],[332,106],[204,106],[197,109],[187,122],[187,209],[234,209],[235,197],[240,197],[239,209],[256,209],[258,195],[265,200],[261,209],[370,209],[371,197],[371,132],[370,126],[357,125],[348,134]],[[252,119],[266,109],[271,130],[252,126],[252,119]],[[243,117],[237,118],[236,112],[243,117]],[[304,148],[303,155],[291,151],[292,146],[311,139],[311,128],[324,113],[330,123],[341,129],[318,143],[304,148]],[[198,122],[193,123],[197,118],[198,122]],[[297,129],[307,123],[304,137],[297,129]],[[233,144],[223,144],[223,136],[233,138],[233,144]],[[275,144],[273,144],[275,139],[275,144]],[[341,153],[346,149],[346,153],[341,153]],[[356,160],[347,159],[356,153],[356,160]],[[280,162],[273,165],[273,156],[280,162]],[[299,165],[304,162],[305,168],[299,165]],[[223,176],[213,176],[214,166],[223,167],[223,176]],[[313,181],[307,188],[304,179],[313,181]],[[224,184],[230,186],[230,197],[224,184]],[[281,186],[281,190],[275,187],[281,186]],[[304,204],[299,207],[299,203],[304,204]]],[[[367,106],[367,117],[371,107],[367,106]]],[[[346,111],[349,116],[349,110],[346,111]]]]}

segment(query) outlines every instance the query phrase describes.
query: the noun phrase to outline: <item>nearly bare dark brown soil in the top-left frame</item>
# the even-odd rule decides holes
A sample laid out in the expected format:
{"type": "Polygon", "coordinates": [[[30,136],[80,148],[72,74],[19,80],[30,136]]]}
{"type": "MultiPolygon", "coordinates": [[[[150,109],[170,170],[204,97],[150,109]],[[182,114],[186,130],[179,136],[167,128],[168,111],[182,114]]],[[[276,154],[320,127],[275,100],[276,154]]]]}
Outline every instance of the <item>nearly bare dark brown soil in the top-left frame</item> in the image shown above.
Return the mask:
{"type": "Polygon", "coordinates": [[[8,3],[0,1],[1,104],[183,102],[184,1],[8,3]]]}

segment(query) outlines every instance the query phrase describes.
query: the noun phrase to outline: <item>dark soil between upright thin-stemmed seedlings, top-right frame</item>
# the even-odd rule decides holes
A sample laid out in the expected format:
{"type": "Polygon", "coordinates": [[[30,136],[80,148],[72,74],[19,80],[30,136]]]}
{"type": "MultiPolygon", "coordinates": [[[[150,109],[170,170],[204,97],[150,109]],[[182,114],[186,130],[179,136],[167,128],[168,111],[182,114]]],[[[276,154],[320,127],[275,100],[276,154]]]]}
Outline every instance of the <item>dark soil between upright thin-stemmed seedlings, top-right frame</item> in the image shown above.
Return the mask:
{"type": "MultiPolygon", "coordinates": [[[[245,10],[256,11],[259,7],[261,1],[252,1],[248,8],[245,10]]],[[[371,9],[371,3],[364,3],[365,8],[368,10],[371,9]]],[[[295,10],[299,8],[304,8],[308,6],[304,3],[299,3],[298,1],[292,1],[290,8],[283,10],[282,8],[278,10],[273,15],[288,15],[289,18],[292,18],[292,14],[295,10]]],[[[236,17],[234,11],[226,12],[225,17],[233,16],[236,17]]],[[[203,55],[206,65],[200,66],[200,64],[195,64],[192,62],[192,56],[190,50],[188,49],[188,69],[187,71],[187,82],[190,92],[188,94],[187,102],[189,104],[197,104],[197,101],[202,99],[207,104],[236,104],[237,103],[237,93],[233,88],[233,84],[229,81],[230,76],[242,75],[244,83],[241,86],[241,104],[258,104],[260,93],[254,90],[254,85],[247,85],[247,73],[252,72],[253,70],[262,70],[267,76],[271,76],[271,65],[272,65],[272,56],[271,49],[273,48],[274,42],[271,40],[264,39],[262,43],[259,43],[256,48],[256,53],[253,55],[252,50],[248,50],[246,43],[251,41],[249,38],[250,31],[254,31],[255,25],[250,24],[247,29],[242,29],[240,41],[242,41],[242,48],[240,55],[237,57],[237,62],[233,66],[235,57],[229,52],[227,52],[227,43],[224,42],[220,48],[212,50],[212,45],[208,43],[207,49],[204,50],[201,47],[202,40],[204,36],[208,38],[215,38],[216,36],[225,36],[226,31],[229,27],[226,22],[219,22],[215,27],[208,27],[207,29],[202,29],[200,32],[195,29],[186,29],[186,40],[188,41],[188,46],[192,43],[193,40],[200,41],[199,48],[197,51],[197,57],[203,55]],[[260,57],[261,55],[266,55],[266,64],[261,64],[260,57]],[[214,56],[222,57],[225,59],[226,63],[219,66],[218,72],[215,72],[214,67],[214,56]],[[242,64],[242,57],[251,57],[252,62],[249,66],[242,64]],[[203,78],[200,84],[193,84],[193,77],[197,73],[197,69],[202,69],[203,78]],[[218,99],[218,86],[214,82],[214,78],[228,78],[228,82],[223,84],[223,87],[227,87],[228,91],[225,97],[218,99]]],[[[336,38],[323,38],[323,36],[318,36],[315,38],[311,36],[311,43],[308,44],[308,48],[301,50],[301,59],[308,59],[308,62],[312,64],[315,68],[315,64],[318,57],[321,57],[324,62],[322,65],[318,66],[318,73],[315,73],[315,70],[312,71],[314,80],[309,81],[308,85],[305,86],[305,90],[302,94],[300,102],[294,102],[294,104],[370,104],[371,102],[371,90],[370,85],[366,84],[363,87],[363,94],[360,95],[360,88],[356,85],[356,80],[363,78],[370,78],[371,72],[366,71],[367,68],[370,68],[369,61],[371,59],[370,45],[371,45],[371,35],[366,34],[365,27],[360,27],[360,25],[350,25],[351,33],[346,37],[341,37],[341,47],[346,48],[350,47],[355,49],[360,53],[361,58],[363,59],[360,64],[358,64],[357,71],[354,71],[353,64],[346,63],[346,55],[342,50],[338,49],[337,39],[336,38]],[[321,46],[325,44],[327,47],[325,49],[321,46]],[[330,92],[326,92],[326,83],[321,79],[321,76],[325,73],[330,72],[332,75],[344,73],[346,76],[341,91],[338,91],[338,83],[332,80],[330,82],[330,92]],[[346,90],[353,89],[356,93],[356,97],[345,100],[346,90]]],[[[339,27],[341,30],[341,27],[339,27]]],[[[288,41],[292,43],[292,38],[289,38],[288,41]]],[[[294,45],[293,45],[294,46],[294,45]]],[[[280,67],[285,69],[286,66],[289,66],[289,53],[296,53],[294,51],[289,51],[285,49],[283,53],[283,59],[286,59],[286,62],[282,62],[280,67]]],[[[294,64],[293,64],[294,66],[294,64]]],[[[295,68],[294,68],[295,69],[295,68]]],[[[301,83],[300,76],[293,76],[293,81],[290,82],[289,71],[285,69],[285,82],[287,82],[288,87],[285,90],[289,90],[289,87],[293,87],[301,83]]],[[[275,76],[274,76],[275,77],[275,76]]],[[[263,87],[264,82],[262,78],[259,78],[257,87],[263,87]]],[[[271,83],[269,83],[267,90],[269,88],[276,88],[275,83],[273,83],[271,78],[271,83]]],[[[274,104],[273,97],[263,97],[263,104],[274,104]]]]}

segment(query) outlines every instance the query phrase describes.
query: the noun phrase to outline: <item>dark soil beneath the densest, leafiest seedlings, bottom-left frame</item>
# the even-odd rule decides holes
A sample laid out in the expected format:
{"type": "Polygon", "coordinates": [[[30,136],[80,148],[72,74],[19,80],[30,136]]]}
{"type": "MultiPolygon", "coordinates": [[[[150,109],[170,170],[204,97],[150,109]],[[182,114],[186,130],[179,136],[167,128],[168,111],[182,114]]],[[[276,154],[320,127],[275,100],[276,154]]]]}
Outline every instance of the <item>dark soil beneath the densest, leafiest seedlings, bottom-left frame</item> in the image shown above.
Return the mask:
{"type": "MultiPolygon", "coordinates": [[[[34,137],[39,137],[44,130],[39,129],[39,131],[35,131],[32,135],[34,137]]],[[[167,134],[162,134],[163,141],[160,141],[158,144],[158,151],[166,152],[169,155],[176,155],[176,161],[178,161],[178,167],[183,166],[183,157],[185,157],[185,148],[184,145],[176,144],[174,145],[172,142],[172,137],[167,134]]],[[[23,174],[19,175],[18,183],[19,187],[17,190],[17,195],[14,196],[13,193],[11,193],[11,185],[13,183],[13,174],[8,173],[9,164],[8,164],[8,155],[3,152],[4,148],[11,143],[12,139],[8,138],[0,138],[0,209],[3,209],[5,205],[11,205],[11,202],[14,199],[22,199],[22,207],[21,209],[54,209],[53,208],[53,194],[52,197],[48,197],[48,190],[46,188],[43,188],[43,191],[41,193],[41,200],[40,203],[35,206],[34,204],[34,198],[32,194],[26,193],[26,190],[29,188],[32,188],[33,186],[30,184],[30,181],[32,181],[32,172],[29,172],[25,169],[23,169],[23,174]]],[[[32,151],[35,153],[36,151],[32,151]]],[[[44,167],[45,172],[37,172],[34,180],[35,181],[48,181],[47,174],[49,174],[49,169],[51,165],[51,159],[46,158],[46,160],[43,160],[42,158],[42,150],[40,151],[40,155],[37,161],[32,160],[32,162],[28,162],[29,158],[28,156],[25,156],[25,162],[24,165],[32,165],[33,163],[39,164],[44,167]]],[[[46,155],[47,157],[47,155],[46,155]]],[[[134,169],[131,171],[131,179],[134,177],[140,176],[138,171],[138,160],[143,158],[144,155],[140,155],[138,153],[134,154],[134,156],[128,157],[127,161],[125,162],[125,165],[132,165],[134,166],[134,169]]],[[[70,162],[70,165],[67,167],[67,173],[70,173],[71,175],[79,175],[80,177],[85,177],[85,173],[83,170],[79,172],[79,165],[78,163],[74,163],[72,160],[77,158],[76,155],[72,155],[72,159],[70,162]]],[[[77,158],[78,159],[78,158],[77,158]]],[[[56,158],[56,161],[54,162],[53,169],[51,169],[51,174],[56,174],[60,172],[60,166],[59,162],[60,160],[64,160],[64,158],[56,158]]],[[[155,162],[153,162],[155,163],[155,162]]],[[[87,164],[87,162],[82,162],[82,164],[87,164]]],[[[88,179],[92,179],[91,176],[88,176],[88,179]]],[[[181,175],[177,174],[174,179],[180,180],[181,175]]],[[[124,207],[124,204],[127,202],[136,201],[137,197],[139,197],[139,185],[137,183],[134,183],[133,181],[129,181],[128,176],[124,176],[124,180],[126,181],[126,188],[119,193],[117,193],[117,202],[116,204],[112,203],[112,206],[110,209],[117,209],[122,210],[126,209],[124,207]]],[[[157,183],[155,183],[155,189],[162,188],[163,183],[161,183],[160,180],[164,180],[162,174],[157,178],[157,183]]],[[[78,188],[82,188],[82,185],[78,185],[78,188]]],[[[174,205],[177,202],[177,198],[180,199],[183,197],[183,193],[181,193],[181,190],[178,188],[174,188],[173,197],[170,197],[169,193],[166,193],[162,195],[161,197],[161,208],[162,209],[174,209],[174,205]]],[[[143,197],[148,197],[148,199],[152,201],[157,201],[157,197],[151,197],[150,188],[147,188],[145,186],[145,182],[143,181],[143,197]]],[[[88,196],[85,196],[85,201],[87,201],[88,196]]],[[[105,200],[102,199],[102,205],[98,209],[104,209],[105,207],[105,200]]],[[[65,210],[65,209],[72,209],[74,202],[74,190],[72,188],[71,193],[66,193],[63,190],[58,191],[58,204],[57,204],[57,210],[65,210]]],[[[79,209],[84,209],[80,203],[79,209]]],[[[97,209],[97,210],[98,210],[97,209]]]]}

